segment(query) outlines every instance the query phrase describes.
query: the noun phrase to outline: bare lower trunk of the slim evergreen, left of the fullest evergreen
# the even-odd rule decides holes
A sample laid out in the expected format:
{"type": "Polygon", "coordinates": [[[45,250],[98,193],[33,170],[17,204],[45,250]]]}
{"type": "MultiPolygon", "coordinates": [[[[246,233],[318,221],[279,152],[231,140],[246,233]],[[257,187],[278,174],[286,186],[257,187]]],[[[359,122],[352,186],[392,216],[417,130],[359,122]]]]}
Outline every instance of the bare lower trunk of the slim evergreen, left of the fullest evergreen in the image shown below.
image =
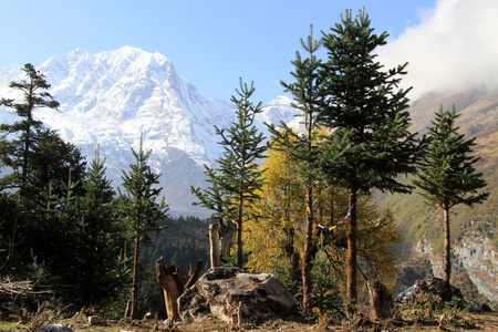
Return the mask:
{"type": "Polygon", "coordinates": [[[312,309],[312,282],[311,282],[311,256],[313,251],[313,189],[307,188],[307,235],[304,241],[304,252],[302,258],[302,305],[304,313],[310,313],[312,309]]]}

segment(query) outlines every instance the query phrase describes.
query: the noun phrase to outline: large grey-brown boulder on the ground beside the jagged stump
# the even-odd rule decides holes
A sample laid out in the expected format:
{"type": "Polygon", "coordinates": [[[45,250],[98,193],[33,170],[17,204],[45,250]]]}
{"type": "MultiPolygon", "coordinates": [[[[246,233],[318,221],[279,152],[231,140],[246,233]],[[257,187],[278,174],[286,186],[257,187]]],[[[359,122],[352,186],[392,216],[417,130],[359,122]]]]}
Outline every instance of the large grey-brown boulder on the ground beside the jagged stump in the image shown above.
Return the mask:
{"type": "Polygon", "coordinates": [[[214,268],[178,298],[181,320],[201,321],[214,315],[222,321],[262,323],[292,314],[298,301],[276,276],[249,274],[239,268],[214,268]]]}

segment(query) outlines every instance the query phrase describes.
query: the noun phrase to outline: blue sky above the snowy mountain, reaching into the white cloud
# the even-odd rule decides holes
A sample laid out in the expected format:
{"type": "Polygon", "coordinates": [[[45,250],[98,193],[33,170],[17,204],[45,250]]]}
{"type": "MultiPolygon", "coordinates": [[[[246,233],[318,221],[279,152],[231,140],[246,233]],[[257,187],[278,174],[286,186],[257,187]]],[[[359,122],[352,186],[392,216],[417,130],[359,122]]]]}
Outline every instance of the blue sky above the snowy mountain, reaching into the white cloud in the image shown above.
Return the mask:
{"type": "MultiPolygon", "coordinates": [[[[421,86],[422,93],[421,77],[427,77],[426,72],[417,69],[427,64],[424,56],[437,53],[445,58],[444,51],[438,53],[438,48],[444,46],[448,39],[469,39],[465,31],[463,37],[459,35],[461,33],[450,31],[456,19],[461,20],[464,17],[466,20],[467,15],[475,13],[468,18],[473,31],[467,34],[474,33],[477,23],[486,22],[489,25],[483,27],[481,33],[489,33],[490,37],[486,39],[497,42],[494,32],[498,31],[497,2],[0,0],[0,68],[28,62],[40,65],[50,56],[68,53],[76,48],[98,53],[131,45],[166,55],[179,74],[209,97],[229,100],[241,76],[247,82],[255,82],[255,102],[267,103],[283,93],[279,82],[290,81],[290,61],[294,59],[295,51],[300,50],[299,40],[308,35],[310,24],[313,24],[315,35],[320,37],[321,30],[328,32],[340,21],[345,9],[352,9],[356,13],[359,9],[365,8],[375,31],[387,31],[391,34],[390,44],[392,42],[393,46],[385,46],[381,58],[392,64],[415,61],[413,70],[418,73],[419,79],[412,82],[421,86]],[[436,39],[433,43],[427,42],[438,29],[442,32],[440,35],[436,33],[436,37],[440,41],[437,42],[436,39]],[[414,45],[412,40],[424,45],[414,45]],[[412,59],[415,53],[418,56],[416,60],[412,59]]],[[[470,39],[474,40],[474,37],[470,39]]],[[[476,48],[481,48],[483,43],[476,44],[476,48]]],[[[449,56],[466,52],[460,43],[455,44],[457,51],[449,56]]],[[[495,51],[479,50],[479,53],[486,53],[492,61],[495,51]]],[[[484,60],[470,58],[470,61],[484,60]]],[[[430,69],[425,70],[430,72],[430,69]]]]}

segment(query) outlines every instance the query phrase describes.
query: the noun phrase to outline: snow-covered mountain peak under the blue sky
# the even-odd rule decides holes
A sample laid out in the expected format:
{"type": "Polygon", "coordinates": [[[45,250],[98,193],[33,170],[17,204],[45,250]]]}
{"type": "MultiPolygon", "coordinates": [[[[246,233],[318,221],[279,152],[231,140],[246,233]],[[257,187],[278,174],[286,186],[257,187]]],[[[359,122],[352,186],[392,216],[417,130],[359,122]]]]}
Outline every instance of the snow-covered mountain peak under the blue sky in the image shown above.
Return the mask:
{"type": "MultiPolygon", "coordinates": [[[[193,211],[189,186],[204,184],[203,165],[212,165],[222,152],[214,125],[228,127],[235,121],[230,102],[206,97],[166,56],[131,46],[97,54],[77,49],[50,58],[38,70],[61,104],[59,112],[38,110],[39,120],[80,147],[87,160],[100,146],[115,187],[134,163],[131,148],[138,148],[142,133],[144,149],[152,149],[148,164],[163,174],[170,210],[193,211]]],[[[21,100],[8,85],[22,79],[21,65],[0,69],[0,97],[21,100]]],[[[257,127],[267,134],[263,122],[291,122],[297,111],[290,102],[279,96],[266,105],[257,127]]],[[[0,121],[13,120],[0,110],[0,121]]]]}

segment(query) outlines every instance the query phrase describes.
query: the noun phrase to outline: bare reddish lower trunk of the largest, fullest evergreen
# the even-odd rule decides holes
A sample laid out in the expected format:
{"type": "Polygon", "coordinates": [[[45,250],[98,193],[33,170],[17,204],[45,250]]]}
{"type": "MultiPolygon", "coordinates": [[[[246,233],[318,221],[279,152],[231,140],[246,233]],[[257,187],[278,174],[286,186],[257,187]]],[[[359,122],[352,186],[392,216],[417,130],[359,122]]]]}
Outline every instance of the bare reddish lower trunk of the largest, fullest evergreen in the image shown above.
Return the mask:
{"type": "Polygon", "coordinates": [[[347,289],[346,289],[346,312],[353,313],[356,311],[357,293],[356,293],[356,190],[350,189],[350,208],[351,211],[350,224],[347,224],[347,289]]]}

